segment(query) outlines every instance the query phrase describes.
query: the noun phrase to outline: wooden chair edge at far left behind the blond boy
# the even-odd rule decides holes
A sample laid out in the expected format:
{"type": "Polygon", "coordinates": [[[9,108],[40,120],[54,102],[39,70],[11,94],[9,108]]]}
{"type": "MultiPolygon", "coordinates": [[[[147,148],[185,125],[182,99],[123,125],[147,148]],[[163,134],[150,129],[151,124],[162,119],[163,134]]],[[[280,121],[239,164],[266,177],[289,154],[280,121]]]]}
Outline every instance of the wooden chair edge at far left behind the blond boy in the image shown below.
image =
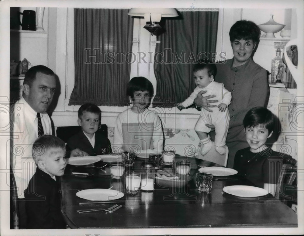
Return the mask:
{"type": "Polygon", "coordinates": [[[19,229],[19,206],[18,206],[18,194],[15,176],[11,166],[9,166],[9,182],[10,182],[10,228],[19,229]]]}

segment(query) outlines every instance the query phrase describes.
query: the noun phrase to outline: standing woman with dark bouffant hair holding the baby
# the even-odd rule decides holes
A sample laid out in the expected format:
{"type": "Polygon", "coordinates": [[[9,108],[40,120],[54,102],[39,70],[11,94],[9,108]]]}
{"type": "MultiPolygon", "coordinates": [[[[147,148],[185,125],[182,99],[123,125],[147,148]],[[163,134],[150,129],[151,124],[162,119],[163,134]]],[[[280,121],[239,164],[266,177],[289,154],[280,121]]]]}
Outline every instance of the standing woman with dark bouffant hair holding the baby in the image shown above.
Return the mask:
{"type": "MultiPolygon", "coordinates": [[[[260,35],[261,31],[254,22],[237,21],[229,32],[233,58],[216,64],[216,82],[223,83],[232,94],[231,104],[228,106],[230,123],[226,139],[229,148],[227,167],[230,168],[233,167],[235,153],[248,147],[243,127],[245,114],[253,107],[264,106],[266,102],[267,72],[252,59],[260,35]]],[[[207,99],[213,96],[201,95],[194,100],[195,105],[211,111],[209,107],[214,107],[213,101],[207,99]]],[[[213,128],[211,125],[206,126],[213,128]]],[[[212,134],[210,136],[212,137],[212,134]]]]}

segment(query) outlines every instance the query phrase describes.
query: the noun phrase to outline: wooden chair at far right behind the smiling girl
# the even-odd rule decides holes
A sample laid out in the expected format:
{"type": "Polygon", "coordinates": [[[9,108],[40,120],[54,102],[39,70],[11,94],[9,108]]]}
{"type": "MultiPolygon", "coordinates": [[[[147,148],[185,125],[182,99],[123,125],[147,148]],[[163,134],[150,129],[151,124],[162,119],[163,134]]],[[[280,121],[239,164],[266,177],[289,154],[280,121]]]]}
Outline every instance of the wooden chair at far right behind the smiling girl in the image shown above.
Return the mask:
{"type": "Polygon", "coordinates": [[[297,161],[291,157],[283,157],[283,165],[277,183],[275,198],[296,212],[298,202],[297,161]]]}

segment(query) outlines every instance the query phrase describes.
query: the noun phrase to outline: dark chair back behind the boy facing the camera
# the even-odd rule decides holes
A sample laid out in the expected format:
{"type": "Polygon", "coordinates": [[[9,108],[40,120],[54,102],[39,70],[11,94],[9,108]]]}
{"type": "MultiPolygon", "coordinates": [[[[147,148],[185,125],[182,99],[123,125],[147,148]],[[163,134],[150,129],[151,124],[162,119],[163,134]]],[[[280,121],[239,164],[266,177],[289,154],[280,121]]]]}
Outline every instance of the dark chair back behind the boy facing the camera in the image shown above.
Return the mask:
{"type": "MultiPolygon", "coordinates": [[[[81,130],[80,126],[61,126],[56,129],[56,136],[62,139],[65,143],[73,135],[77,134],[81,130]]],[[[105,137],[108,137],[108,126],[100,124],[97,132],[102,133],[105,137]]]]}

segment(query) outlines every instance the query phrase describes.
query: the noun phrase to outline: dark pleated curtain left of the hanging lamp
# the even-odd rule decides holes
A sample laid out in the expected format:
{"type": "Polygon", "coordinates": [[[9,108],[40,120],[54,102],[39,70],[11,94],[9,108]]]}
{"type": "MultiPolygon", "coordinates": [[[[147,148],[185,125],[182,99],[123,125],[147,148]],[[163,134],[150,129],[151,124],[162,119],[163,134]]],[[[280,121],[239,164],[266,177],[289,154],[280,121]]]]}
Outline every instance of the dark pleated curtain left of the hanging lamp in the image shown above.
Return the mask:
{"type": "Polygon", "coordinates": [[[69,105],[125,106],[133,18],[128,9],[74,9],[75,85],[69,105]]]}

